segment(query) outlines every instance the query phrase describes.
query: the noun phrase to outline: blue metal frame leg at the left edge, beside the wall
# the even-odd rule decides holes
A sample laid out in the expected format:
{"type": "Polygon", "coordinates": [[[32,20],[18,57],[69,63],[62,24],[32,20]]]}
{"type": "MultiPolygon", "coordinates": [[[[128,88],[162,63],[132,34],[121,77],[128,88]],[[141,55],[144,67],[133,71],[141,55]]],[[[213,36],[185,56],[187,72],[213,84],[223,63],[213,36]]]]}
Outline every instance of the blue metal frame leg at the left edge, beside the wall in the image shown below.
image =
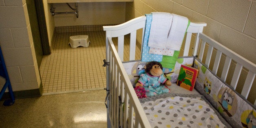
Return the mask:
{"type": "Polygon", "coordinates": [[[1,46],[0,46],[0,76],[4,77],[6,79],[6,82],[5,82],[3,88],[0,92],[0,99],[2,99],[2,96],[4,95],[4,92],[5,92],[6,88],[8,87],[11,99],[5,100],[3,105],[4,106],[13,105],[14,102],[15,102],[15,98],[14,98],[14,95],[13,95],[13,90],[11,88],[11,82],[10,82],[10,79],[9,79],[9,75],[7,73],[7,68],[5,66],[4,56],[2,54],[1,46]]]}

